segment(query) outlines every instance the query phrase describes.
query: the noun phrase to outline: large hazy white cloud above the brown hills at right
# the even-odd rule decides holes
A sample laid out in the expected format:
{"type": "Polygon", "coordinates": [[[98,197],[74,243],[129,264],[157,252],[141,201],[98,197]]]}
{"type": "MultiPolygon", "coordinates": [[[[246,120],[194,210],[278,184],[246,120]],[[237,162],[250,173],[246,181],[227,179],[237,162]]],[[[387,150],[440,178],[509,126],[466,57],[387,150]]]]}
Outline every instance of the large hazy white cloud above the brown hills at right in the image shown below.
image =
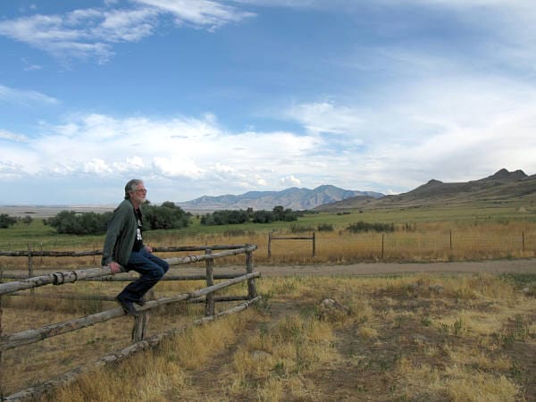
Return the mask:
{"type": "Polygon", "coordinates": [[[440,78],[391,84],[385,100],[366,110],[304,103],[285,115],[306,130],[337,134],[316,149],[316,155],[331,157],[315,158],[316,167],[307,163],[311,171],[300,172],[302,182],[313,180],[314,172],[343,188],[370,189],[344,185],[362,181],[380,191],[395,185],[401,191],[432,178],[474,180],[502,167],[536,171],[535,104],[536,88],[525,82],[452,70],[440,78]]]}

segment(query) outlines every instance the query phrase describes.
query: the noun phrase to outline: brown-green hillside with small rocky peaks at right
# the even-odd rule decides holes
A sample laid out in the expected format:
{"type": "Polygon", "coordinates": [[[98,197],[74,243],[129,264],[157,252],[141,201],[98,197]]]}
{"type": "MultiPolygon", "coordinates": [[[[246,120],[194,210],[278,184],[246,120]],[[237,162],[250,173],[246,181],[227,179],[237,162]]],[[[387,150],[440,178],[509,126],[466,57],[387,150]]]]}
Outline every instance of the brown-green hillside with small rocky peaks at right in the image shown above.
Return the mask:
{"type": "Polygon", "coordinates": [[[465,205],[474,202],[490,205],[507,203],[536,205],[536,175],[528,176],[521,170],[508,172],[507,169],[501,169],[480,180],[458,183],[430,180],[422,186],[396,196],[348,197],[335,203],[319,205],[315,210],[465,205]]]}

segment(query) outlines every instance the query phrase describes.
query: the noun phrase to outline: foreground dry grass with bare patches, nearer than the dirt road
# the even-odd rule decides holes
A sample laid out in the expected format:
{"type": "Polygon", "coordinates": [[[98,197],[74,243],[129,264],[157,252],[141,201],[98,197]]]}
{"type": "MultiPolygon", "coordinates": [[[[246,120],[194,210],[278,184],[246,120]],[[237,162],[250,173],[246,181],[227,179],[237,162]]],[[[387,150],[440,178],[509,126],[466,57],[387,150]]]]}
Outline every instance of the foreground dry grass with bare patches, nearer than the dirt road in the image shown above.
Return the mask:
{"type": "MultiPolygon", "coordinates": [[[[176,286],[159,283],[157,293],[176,286]]],[[[263,301],[254,308],[184,331],[44,399],[536,399],[535,275],[265,276],[258,290],[263,301]],[[334,303],[322,304],[326,299],[334,303]]],[[[50,306],[18,303],[4,308],[3,321],[14,326],[4,333],[63,320],[82,308],[55,306],[51,315],[50,306]]],[[[159,331],[200,314],[199,306],[168,309],[152,316],[150,328],[159,331]]],[[[37,381],[38,369],[61,373],[80,363],[74,360],[128,344],[130,319],[122,320],[11,356],[5,352],[3,367],[10,369],[3,373],[4,392],[37,381]],[[77,345],[76,358],[63,351],[67,342],[77,345]]]]}

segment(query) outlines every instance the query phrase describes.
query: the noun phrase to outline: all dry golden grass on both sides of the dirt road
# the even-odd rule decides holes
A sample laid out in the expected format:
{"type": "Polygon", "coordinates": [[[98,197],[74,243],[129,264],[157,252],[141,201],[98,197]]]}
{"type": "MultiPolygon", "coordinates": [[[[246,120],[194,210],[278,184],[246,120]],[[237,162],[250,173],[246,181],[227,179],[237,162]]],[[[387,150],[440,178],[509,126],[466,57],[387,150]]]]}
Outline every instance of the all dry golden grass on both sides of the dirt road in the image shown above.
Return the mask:
{"type": "MultiPolygon", "coordinates": [[[[42,399],[536,400],[536,223],[400,221],[397,228],[351,233],[334,225],[316,232],[315,255],[310,240],[278,240],[272,242],[271,257],[267,231],[147,232],[154,247],[257,244],[254,265],[263,271],[257,281],[263,301],[86,374],[42,399]],[[438,264],[472,261],[479,263],[471,270],[437,270],[438,264]],[[516,261],[526,261],[529,268],[525,264],[523,271],[512,270],[516,261]],[[404,264],[398,264],[398,272],[382,271],[386,262],[404,264]],[[357,263],[366,265],[366,275],[348,272],[349,264],[357,263]],[[334,303],[322,305],[325,299],[334,303]]],[[[21,240],[14,249],[25,249],[22,239],[44,239],[29,236],[26,228],[18,230],[21,240]]],[[[288,229],[275,233],[294,235],[288,229]]],[[[102,244],[100,238],[77,240],[51,236],[43,248],[80,251],[102,244]]],[[[162,256],[175,255],[184,253],[162,256]]],[[[32,266],[38,272],[96,266],[99,261],[99,256],[34,255],[32,266]]],[[[244,258],[227,257],[216,265],[221,272],[235,266],[243,272],[244,258]]],[[[204,265],[197,266],[191,269],[204,265]]],[[[28,258],[0,256],[0,267],[28,272],[28,258]]],[[[179,267],[178,272],[188,269],[179,267]]],[[[35,293],[113,296],[122,286],[80,282],[35,293]]],[[[163,297],[204,286],[201,281],[163,281],[155,291],[163,297]]],[[[238,291],[229,292],[243,295],[247,289],[239,285],[238,291]]],[[[4,334],[116,307],[106,301],[38,297],[2,297],[2,303],[4,334]]],[[[147,336],[193,322],[203,312],[202,305],[161,308],[151,314],[147,336]]],[[[125,348],[131,328],[132,319],[125,316],[4,351],[0,390],[9,395],[125,348]]]]}

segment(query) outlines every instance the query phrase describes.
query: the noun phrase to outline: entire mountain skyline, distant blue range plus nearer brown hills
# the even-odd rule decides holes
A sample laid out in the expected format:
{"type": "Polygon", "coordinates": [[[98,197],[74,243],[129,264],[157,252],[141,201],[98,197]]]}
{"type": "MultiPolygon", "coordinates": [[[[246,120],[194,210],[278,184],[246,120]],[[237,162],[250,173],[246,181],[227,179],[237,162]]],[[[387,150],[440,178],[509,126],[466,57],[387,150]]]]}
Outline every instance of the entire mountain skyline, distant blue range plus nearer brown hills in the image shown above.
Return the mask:
{"type": "Polygon", "coordinates": [[[222,209],[272,210],[281,205],[293,210],[339,211],[352,209],[415,207],[425,205],[536,205],[536,175],[521,170],[501,169],[480,180],[444,183],[430,180],[406,193],[385,196],[373,191],[356,191],[324,185],[314,189],[287,188],[282,191],[249,191],[239,196],[198,197],[176,203],[190,212],[222,209]]]}

